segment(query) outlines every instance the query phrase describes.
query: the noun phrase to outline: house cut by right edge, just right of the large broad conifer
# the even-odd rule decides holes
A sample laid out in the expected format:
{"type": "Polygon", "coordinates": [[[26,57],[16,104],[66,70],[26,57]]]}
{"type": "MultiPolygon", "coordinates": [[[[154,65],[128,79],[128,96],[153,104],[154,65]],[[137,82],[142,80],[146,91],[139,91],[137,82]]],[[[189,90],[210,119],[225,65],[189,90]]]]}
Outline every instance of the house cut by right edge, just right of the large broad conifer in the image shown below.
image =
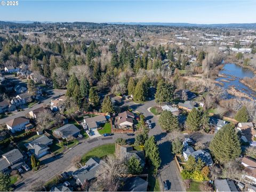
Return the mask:
{"type": "Polygon", "coordinates": [[[249,142],[251,146],[256,145],[256,141],[254,141],[256,130],[253,123],[238,123],[236,129],[241,132],[241,139],[244,142],[249,142]]]}

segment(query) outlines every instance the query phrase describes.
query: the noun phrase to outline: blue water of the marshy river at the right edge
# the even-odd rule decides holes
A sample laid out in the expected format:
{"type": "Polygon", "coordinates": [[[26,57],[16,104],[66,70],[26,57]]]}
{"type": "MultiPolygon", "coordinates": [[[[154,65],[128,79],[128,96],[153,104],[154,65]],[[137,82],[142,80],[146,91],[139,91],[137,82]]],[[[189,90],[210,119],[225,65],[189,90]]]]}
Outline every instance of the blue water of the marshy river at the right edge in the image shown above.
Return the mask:
{"type": "MultiPolygon", "coordinates": [[[[235,86],[237,90],[241,91],[242,93],[246,93],[249,97],[256,100],[256,92],[239,82],[239,79],[244,77],[254,77],[254,73],[252,73],[250,69],[243,68],[234,63],[227,63],[224,65],[219,74],[225,77],[218,77],[215,79],[215,81],[220,82],[222,85],[217,85],[223,87],[224,90],[228,90],[229,86],[235,86]]],[[[235,98],[235,96],[226,92],[226,98],[235,98]]]]}

